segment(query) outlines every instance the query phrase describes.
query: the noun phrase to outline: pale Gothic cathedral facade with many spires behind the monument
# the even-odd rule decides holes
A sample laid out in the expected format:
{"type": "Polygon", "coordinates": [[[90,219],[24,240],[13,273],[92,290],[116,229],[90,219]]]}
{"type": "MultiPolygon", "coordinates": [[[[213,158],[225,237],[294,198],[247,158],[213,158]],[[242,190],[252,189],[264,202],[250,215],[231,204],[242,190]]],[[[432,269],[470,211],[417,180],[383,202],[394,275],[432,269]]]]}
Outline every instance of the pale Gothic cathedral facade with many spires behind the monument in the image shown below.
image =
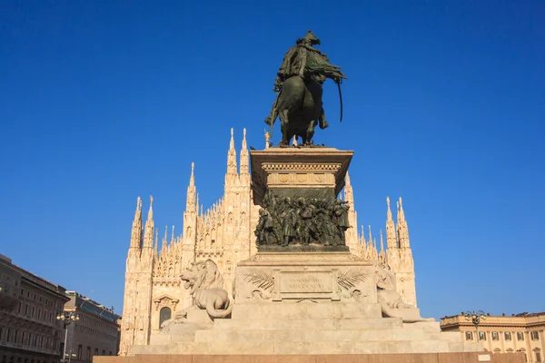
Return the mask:
{"type": "MultiPolygon", "coordinates": [[[[126,355],[133,345],[149,345],[152,333],[158,332],[164,320],[192,303],[183,288],[180,275],[199,260],[213,260],[223,275],[223,289],[233,296],[233,279],[237,263],[257,252],[253,231],[259,219],[259,205],[253,203],[250,154],[243,131],[240,157],[234,147],[233,129],[227,152],[223,196],[204,210],[199,203],[194,165],[191,167],[183,228],[179,235],[159,241],[155,228],[153,198],[143,224],[142,201],[138,198],[127,254],[124,287],[124,308],[120,354],[126,355]]],[[[386,244],[380,232],[380,250],[371,227],[369,236],[358,233],[357,213],[350,176],[347,174],[343,198],[351,207],[346,232],[346,245],[355,255],[389,265],[398,282],[398,292],[405,302],[416,305],[414,264],[409,231],[398,201],[397,225],[393,221],[390,200],[387,200],[386,244]]]]}

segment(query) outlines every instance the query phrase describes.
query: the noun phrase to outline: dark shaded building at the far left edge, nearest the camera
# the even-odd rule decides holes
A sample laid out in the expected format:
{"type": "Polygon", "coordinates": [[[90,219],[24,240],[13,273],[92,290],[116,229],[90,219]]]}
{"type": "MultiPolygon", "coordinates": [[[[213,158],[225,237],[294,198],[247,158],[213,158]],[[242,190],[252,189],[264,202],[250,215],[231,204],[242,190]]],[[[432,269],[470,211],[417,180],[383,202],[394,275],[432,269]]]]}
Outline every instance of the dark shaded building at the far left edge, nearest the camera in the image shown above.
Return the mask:
{"type": "Polygon", "coordinates": [[[64,343],[56,315],[65,289],[0,255],[0,363],[58,362],[64,343]]]}

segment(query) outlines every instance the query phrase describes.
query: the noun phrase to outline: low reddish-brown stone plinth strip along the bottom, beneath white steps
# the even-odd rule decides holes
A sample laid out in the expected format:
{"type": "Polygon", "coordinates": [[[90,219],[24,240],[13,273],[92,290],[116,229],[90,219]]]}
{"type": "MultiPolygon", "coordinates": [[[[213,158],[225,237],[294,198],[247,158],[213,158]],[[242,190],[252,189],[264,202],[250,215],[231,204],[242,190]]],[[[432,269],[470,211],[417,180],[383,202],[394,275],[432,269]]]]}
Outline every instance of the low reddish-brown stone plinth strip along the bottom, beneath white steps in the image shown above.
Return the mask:
{"type": "Polygon", "coordinates": [[[164,354],[136,357],[95,356],[94,363],[524,363],[523,353],[408,353],[408,354],[332,354],[332,355],[193,355],[164,354]]]}

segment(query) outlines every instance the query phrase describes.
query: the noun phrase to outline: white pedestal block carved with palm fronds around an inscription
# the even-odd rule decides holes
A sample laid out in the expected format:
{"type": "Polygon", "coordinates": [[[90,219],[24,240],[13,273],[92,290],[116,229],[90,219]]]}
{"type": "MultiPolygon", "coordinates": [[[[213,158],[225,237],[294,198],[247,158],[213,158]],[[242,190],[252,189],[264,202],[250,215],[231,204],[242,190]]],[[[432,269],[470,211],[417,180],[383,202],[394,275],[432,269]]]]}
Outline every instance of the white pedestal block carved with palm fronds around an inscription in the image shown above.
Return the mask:
{"type": "Polygon", "coordinates": [[[237,304],[305,299],[376,304],[374,281],[372,263],[349,252],[260,252],[239,262],[234,299],[237,304]]]}

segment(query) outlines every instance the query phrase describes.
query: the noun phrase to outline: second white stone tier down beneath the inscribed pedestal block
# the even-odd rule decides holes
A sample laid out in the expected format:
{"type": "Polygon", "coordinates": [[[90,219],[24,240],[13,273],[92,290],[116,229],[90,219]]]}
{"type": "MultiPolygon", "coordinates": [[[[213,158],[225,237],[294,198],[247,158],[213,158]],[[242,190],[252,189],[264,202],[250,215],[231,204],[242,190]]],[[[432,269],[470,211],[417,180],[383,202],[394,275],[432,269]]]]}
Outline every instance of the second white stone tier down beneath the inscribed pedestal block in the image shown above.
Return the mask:
{"type": "Polygon", "coordinates": [[[401,318],[371,319],[215,319],[213,329],[389,329],[401,318]]]}

